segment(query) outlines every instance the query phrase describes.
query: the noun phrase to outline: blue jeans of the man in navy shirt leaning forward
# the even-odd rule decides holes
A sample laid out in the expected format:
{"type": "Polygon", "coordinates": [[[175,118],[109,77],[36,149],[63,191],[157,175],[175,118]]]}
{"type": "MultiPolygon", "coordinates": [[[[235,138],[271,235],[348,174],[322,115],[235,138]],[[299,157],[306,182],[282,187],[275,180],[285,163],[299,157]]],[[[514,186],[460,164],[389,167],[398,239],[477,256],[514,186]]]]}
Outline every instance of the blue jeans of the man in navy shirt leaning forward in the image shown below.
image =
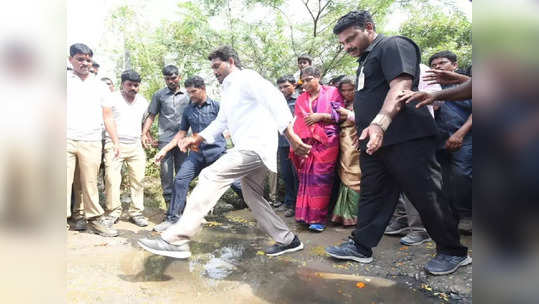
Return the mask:
{"type": "MultiPolygon", "coordinates": [[[[223,153],[222,155],[224,155],[223,153]]],[[[221,155],[221,156],[222,156],[221,155]]],[[[180,167],[180,171],[176,174],[174,179],[174,189],[172,192],[172,201],[168,206],[166,220],[172,223],[176,223],[183,210],[185,209],[185,200],[187,198],[187,192],[189,191],[189,184],[191,181],[200,174],[202,169],[213,164],[215,161],[207,162],[200,153],[189,153],[187,159],[180,167]]],[[[232,190],[236,192],[242,199],[241,185],[239,180],[236,180],[230,185],[232,190]]]]}

